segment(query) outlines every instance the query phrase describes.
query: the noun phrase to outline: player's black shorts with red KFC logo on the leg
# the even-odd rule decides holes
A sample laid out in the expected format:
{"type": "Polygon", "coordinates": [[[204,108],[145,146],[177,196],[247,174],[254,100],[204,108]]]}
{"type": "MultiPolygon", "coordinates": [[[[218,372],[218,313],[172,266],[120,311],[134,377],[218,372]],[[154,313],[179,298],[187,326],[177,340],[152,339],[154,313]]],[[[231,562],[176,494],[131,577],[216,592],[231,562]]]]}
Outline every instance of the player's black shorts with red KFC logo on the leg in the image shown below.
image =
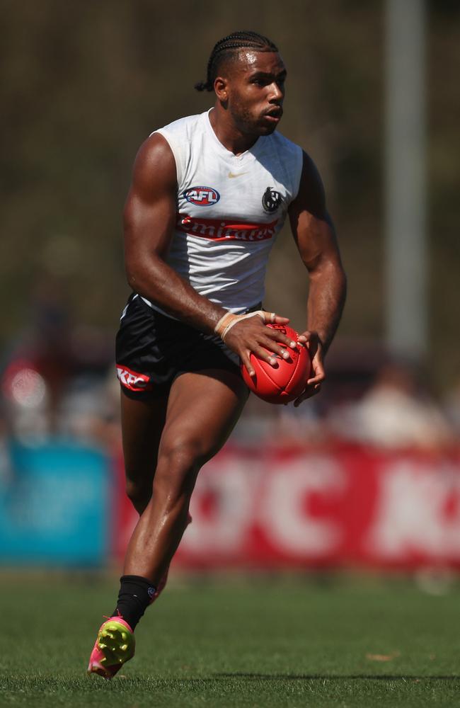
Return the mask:
{"type": "Polygon", "coordinates": [[[167,393],[185,372],[224,369],[239,375],[236,361],[223,348],[219,337],[157,312],[133,293],[115,345],[122,391],[134,399],[154,398],[167,393]]]}

